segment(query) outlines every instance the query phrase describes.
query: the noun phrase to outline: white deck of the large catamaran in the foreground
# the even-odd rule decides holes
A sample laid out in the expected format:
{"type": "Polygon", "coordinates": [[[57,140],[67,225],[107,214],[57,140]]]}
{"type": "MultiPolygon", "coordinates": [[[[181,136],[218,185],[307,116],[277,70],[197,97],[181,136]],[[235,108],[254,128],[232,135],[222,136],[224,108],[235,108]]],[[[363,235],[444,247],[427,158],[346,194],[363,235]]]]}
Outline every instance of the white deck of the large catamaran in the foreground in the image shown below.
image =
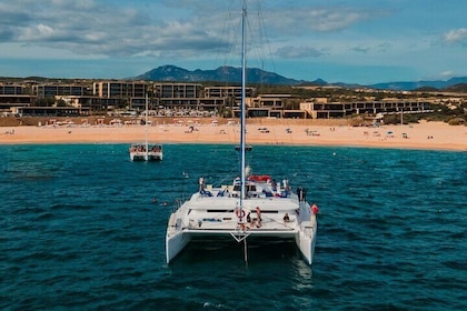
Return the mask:
{"type": "MultiPolygon", "coordinates": [[[[251,233],[278,231],[290,234],[298,230],[299,223],[306,218],[309,219],[309,207],[305,202],[299,202],[297,194],[289,193],[287,197],[266,197],[262,192],[257,192],[242,200],[240,210],[240,199],[235,191],[226,192],[225,188],[209,188],[209,191],[200,191],[192,194],[191,199],[183,203],[178,210],[178,219],[182,230],[192,233],[212,231],[249,231],[251,233]],[[258,221],[257,208],[260,211],[258,221]],[[300,218],[301,209],[301,218],[300,218]],[[286,213],[288,221],[284,220],[286,213]],[[248,218],[249,214],[249,218],[248,218]],[[300,221],[298,221],[300,218],[300,221]]],[[[250,193],[251,194],[251,193],[250,193]]]]}

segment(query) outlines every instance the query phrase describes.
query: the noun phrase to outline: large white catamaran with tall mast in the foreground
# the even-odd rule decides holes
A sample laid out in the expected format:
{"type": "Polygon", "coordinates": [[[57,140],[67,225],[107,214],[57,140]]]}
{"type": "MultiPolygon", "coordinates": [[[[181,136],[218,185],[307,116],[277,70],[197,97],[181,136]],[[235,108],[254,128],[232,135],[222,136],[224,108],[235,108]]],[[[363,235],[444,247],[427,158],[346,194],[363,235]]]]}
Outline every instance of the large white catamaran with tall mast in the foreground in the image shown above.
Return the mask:
{"type": "MultiPolygon", "coordinates": [[[[269,175],[250,175],[245,161],[245,88],[246,48],[242,4],[242,77],[239,175],[231,184],[212,187],[200,178],[199,189],[188,201],[170,214],[166,234],[166,260],[170,263],[190,242],[212,241],[245,244],[245,261],[248,261],[248,244],[288,240],[295,242],[305,261],[311,264],[315,252],[318,207],[306,200],[306,190],[296,193],[285,179],[276,182],[269,175]]],[[[195,243],[193,243],[195,244],[195,243]]],[[[280,245],[274,244],[274,245],[280,245]]]]}

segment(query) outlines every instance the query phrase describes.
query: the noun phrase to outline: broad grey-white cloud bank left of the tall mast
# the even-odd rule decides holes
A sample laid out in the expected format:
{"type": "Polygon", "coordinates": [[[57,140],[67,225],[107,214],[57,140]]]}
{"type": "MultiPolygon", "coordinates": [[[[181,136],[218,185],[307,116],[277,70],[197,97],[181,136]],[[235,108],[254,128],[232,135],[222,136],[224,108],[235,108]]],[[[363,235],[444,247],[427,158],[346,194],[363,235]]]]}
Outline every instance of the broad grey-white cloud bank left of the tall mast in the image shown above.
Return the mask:
{"type": "Polygon", "coordinates": [[[192,56],[228,44],[219,38],[221,27],[217,24],[223,20],[216,14],[210,19],[190,16],[166,20],[158,14],[160,8],[145,11],[128,7],[132,2],[123,3],[127,7],[92,0],[0,3],[1,42],[108,57],[160,56],[168,51],[192,56]],[[202,30],[207,28],[209,31],[202,30]]]}

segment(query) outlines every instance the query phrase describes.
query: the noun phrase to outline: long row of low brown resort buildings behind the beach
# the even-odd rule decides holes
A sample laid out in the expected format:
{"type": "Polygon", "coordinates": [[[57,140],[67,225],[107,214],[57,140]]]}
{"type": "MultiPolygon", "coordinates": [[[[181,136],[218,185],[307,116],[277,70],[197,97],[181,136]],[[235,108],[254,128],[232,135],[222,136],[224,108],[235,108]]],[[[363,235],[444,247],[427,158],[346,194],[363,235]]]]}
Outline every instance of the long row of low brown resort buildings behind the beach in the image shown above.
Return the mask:
{"type": "MultiPolygon", "coordinates": [[[[305,99],[292,94],[258,94],[246,89],[249,118],[329,119],[352,114],[426,112],[430,102],[441,99],[357,98],[357,96],[305,99]]],[[[152,82],[135,80],[77,80],[74,83],[38,83],[36,81],[0,82],[0,111],[21,116],[115,114],[139,116],[146,110],[146,98],[152,116],[202,117],[239,116],[241,88],[203,87],[201,83],[152,82]],[[57,108],[57,109],[56,109],[57,108]],[[122,114],[123,113],[123,114],[122,114]]],[[[438,101],[436,101],[438,100],[438,101]]],[[[464,98],[456,97],[456,103],[464,98]]],[[[447,104],[447,103],[446,103],[447,104]]],[[[453,104],[454,107],[454,104],[453,104]]],[[[457,107],[457,106],[456,106],[457,107]]]]}

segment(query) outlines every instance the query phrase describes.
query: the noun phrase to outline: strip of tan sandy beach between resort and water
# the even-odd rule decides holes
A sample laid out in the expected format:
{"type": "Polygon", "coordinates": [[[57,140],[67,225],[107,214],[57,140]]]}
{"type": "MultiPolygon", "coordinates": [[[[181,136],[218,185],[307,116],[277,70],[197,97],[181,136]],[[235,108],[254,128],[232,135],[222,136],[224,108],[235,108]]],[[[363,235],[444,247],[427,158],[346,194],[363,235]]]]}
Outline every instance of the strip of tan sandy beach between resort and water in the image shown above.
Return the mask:
{"type": "MultiPolygon", "coordinates": [[[[239,140],[237,122],[153,123],[148,127],[150,142],[231,143],[239,140]]],[[[4,127],[0,143],[137,143],[145,141],[143,126],[4,127]]],[[[340,146],[467,151],[467,127],[421,121],[417,124],[350,127],[304,124],[288,121],[249,121],[247,143],[286,146],[340,146]]]]}

